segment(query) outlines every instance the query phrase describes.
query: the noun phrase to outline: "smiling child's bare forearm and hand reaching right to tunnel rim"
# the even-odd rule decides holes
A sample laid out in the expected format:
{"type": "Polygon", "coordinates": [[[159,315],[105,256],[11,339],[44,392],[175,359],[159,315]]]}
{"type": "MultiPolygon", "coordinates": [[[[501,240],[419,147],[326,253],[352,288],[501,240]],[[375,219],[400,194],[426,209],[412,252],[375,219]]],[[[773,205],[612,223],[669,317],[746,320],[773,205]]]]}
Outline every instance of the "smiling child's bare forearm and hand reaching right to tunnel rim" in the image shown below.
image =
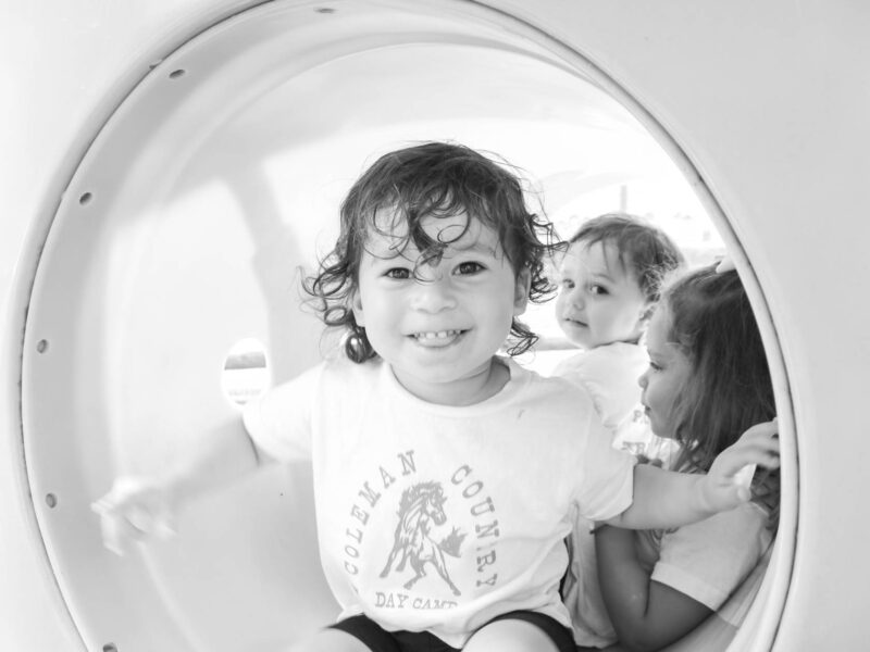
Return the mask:
{"type": "Polygon", "coordinates": [[[671,528],[733,510],[751,498],[736,476],[747,464],[780,465],[775,421],[757,424],[722,451],[707,474],[661,471],[647,464],[634,468],[631,506],[607,523],[631,529],[671,528]]]}

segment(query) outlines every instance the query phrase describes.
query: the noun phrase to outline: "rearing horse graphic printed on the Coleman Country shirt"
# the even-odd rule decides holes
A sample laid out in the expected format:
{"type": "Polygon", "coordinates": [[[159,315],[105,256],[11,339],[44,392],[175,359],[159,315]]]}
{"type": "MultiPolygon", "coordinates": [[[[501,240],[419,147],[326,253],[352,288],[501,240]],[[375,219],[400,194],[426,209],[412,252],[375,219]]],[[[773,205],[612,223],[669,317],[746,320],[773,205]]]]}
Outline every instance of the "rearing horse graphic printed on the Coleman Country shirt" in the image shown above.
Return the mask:
{"type": "Polygon", "coordinates": [[[457,528],[439,542],[432,538],[434,525],[444,525],[447,514],[444,512],[444,502],[447,499],[438,482],[421,482],[406,489],[399,501],[399,524],[396,526],[395,542],[389,551],[387,563],[381,572],[381,577],[389,575],[390,570],[405,570],[406,562],[410,564],[415,575],[405,582],[405,588],[410,589],[417,581],[426,575],[424,568],[428,562],[447,582],[453,595],[460,591],[450,579],[444,553],[459,556],[459,547],[465,535],[460,535],[457,528]],[[393,564],[399,559],[398,565],[393,564]]]}

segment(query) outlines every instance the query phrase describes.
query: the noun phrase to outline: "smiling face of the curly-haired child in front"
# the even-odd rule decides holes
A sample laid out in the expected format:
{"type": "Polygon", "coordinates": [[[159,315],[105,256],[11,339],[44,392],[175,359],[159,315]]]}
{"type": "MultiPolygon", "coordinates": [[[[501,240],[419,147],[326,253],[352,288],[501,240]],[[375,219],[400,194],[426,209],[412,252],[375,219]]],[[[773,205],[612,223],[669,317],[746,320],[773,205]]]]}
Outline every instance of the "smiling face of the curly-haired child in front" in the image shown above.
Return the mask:
{"type": "MultiPolygon", "coordinates": [[[[428,217],[422,225],[435,241],[451,241],[468,220],[428,217]]],[[[357,323],[415,396],[476,402],[486,391],[493,355],[513,317],[525,311],[529,275],[514,275],[498,236],[477,220],[439,260],[420,266],[413,242],[396,251],[403,236],[369,235],[352,303],[357,323]]]]}

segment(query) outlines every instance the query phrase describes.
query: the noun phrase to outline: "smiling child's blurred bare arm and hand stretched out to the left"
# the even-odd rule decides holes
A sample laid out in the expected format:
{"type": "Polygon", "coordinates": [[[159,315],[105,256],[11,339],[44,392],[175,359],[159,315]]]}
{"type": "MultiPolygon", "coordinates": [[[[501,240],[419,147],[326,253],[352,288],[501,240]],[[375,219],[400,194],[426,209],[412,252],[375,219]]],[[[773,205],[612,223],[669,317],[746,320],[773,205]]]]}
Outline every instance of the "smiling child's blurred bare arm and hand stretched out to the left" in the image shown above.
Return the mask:
{"type": "Polygon", "coordinates": [[[164,473],[116,478],[109,493],[94,503],[109,550],[124,554],[134,541],[174,534],[181,505],[250,474],[261,459],[241,418],[210,430],[191,451],[164,473]]]}

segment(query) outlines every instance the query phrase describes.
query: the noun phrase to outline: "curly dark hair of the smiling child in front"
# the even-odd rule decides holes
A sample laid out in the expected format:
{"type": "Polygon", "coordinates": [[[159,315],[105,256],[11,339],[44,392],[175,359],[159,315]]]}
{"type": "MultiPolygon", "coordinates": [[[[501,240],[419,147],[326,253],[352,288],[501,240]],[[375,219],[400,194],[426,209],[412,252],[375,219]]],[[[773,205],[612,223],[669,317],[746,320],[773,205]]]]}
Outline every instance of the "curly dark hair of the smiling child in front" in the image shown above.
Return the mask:
{"type": "MultiPolygon", "coordinates": [[[[422,252],[420,265],[437,261],[469,228],[453,240],[436,241],[424,230],[424,218],[461,214],[498,235],[515,276],[529,271],[530,301],[545,301],[554,292],[544,261],[563,244],[548,220],[527,211],[518,176],[461,145],[426,142],[396,150],[375,161],[350,188],[335,248],[320,261],[319,273],[302,281],[323,323],[347,328],[344,348],[350,360],[360,363],[377,355],[350,306],[369,234],[406,231],[396,251],[412,242],[422,252]],[[402,228],[396,229],[399,225],[402,228]]],[[[508,348],[511,355],[527,351],[538,339],[515,317],[510,333],[515,340],[508,348]]]]}

